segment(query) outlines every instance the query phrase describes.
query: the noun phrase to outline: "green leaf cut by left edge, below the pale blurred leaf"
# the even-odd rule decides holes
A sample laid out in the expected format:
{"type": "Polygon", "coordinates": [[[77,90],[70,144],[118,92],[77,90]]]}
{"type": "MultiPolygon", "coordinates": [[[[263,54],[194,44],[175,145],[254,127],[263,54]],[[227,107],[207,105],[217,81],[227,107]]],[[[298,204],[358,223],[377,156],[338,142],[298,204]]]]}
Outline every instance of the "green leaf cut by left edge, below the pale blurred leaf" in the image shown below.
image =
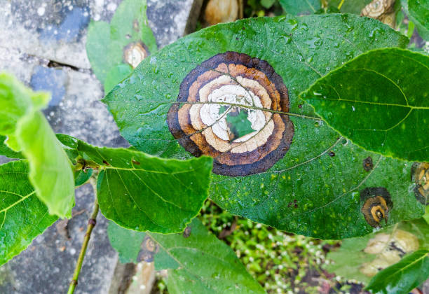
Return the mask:
{"type": "Polygon", "coordinates": [[[0,265],[23,251],[56,220],[28,180],[25,161],[0,165],[0,265]]]}

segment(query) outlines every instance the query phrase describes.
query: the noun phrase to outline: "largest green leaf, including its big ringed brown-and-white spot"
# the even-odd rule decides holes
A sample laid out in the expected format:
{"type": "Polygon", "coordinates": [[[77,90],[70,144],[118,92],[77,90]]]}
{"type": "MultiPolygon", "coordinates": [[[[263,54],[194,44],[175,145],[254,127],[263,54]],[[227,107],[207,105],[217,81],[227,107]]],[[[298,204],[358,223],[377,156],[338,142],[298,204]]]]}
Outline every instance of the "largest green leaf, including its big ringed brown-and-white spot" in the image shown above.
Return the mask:
{"type": "Polygon", "coordinates": [[[374,228],[362,207],[375,188],[393,202],[388,225],[423,214],[411,162],[341,139],[298,94],[355,55],[407,42],[356,15],[240,20],[151,55],[104,102],[141,151],[211,155],[210,197],[231,213],[301,235],[365,235],[374,228]]]}

